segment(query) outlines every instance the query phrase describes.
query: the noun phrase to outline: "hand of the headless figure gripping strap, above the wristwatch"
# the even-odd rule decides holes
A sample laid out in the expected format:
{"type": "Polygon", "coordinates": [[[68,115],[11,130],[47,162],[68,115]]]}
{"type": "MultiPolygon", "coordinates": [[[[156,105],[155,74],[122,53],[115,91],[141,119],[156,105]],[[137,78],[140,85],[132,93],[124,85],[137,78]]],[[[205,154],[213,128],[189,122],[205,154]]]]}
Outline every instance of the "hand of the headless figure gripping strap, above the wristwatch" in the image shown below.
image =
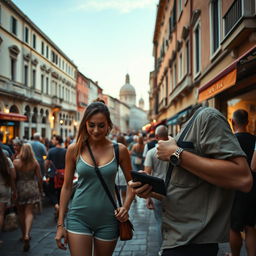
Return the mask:
{"type": "Polygon", "coordinates": [[[177,148],[176,141],[172,138],[169,137],[169,140],[163,141],[160,140],[158,141],[158,146],[157,146],[157,158],[163,161],[169,161],[170,156],[172,153],[177,148]]]}

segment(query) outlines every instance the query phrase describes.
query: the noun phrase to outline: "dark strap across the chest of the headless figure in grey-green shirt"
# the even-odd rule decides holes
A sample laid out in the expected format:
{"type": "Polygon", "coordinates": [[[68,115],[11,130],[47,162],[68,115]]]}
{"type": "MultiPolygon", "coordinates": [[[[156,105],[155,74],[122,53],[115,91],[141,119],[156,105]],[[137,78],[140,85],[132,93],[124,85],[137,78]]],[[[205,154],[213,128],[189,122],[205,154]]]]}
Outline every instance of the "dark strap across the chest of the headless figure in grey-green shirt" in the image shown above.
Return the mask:
{"type": "MultiPolygon", "coordinates": [[[[205,107],[201,107],[199,109],[196,110],[196,112],[194,113],[193,117],[190,119],[190,121],[188,122],[187,126],[185,127],[185,129],[182,131],[178,141],[177,141],[177,145],[179,147],[185,147],[184,145],[186,144],[191,144],[191,142],[188,142],[188,141],[183,141],[185,135],[187,134],[189,128],[192,126],[195,118],[197,117],[197,115],[203,110],[205,109],[205,107]]],[[[166,177],[165,177],[165,188],[167,189],[169,183],[170,183],[170,180],[171,180],[171,176],[172,176],[172,170],[173,170],[173,165],[171,163],[169,163],[169,166],[168,166],[168,171],[166,173],[166,177]]]]}

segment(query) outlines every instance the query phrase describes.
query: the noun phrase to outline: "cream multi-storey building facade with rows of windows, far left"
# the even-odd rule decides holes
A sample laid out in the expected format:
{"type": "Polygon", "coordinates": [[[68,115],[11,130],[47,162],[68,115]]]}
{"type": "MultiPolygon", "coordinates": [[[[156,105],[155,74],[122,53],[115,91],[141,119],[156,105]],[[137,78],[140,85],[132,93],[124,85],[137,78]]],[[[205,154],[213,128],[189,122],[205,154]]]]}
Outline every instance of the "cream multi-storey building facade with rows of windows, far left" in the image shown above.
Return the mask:
{"type": "Polygon", "coordinates": [[[12,1],[0,0],[0,129],[74,135],[76,65],[12,1]]]}

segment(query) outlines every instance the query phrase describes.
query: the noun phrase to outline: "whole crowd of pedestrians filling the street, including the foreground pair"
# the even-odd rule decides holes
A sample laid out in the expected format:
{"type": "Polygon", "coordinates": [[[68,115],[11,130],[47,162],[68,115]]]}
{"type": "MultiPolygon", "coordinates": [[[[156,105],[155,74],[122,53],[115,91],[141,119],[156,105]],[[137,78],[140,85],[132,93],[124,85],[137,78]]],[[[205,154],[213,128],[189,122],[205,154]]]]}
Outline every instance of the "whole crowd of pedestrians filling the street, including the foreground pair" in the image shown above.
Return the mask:
{"type": "Polygon", "coordinates": [[[97,99],[76,139],[43,141],[35,133],[7,145],[0,133],[0,229],[13,207],[28,251],[35,205],[45,196],[60,249],[110,256],[138,196],[154,211],[159,255],[216,256],[218,244],[229,242],[227,256],[239,256],[243,243],[256,256],[256,138],[248,123],[243,109],[230,127],[218,110],[199,107],[174,138],[164,125],[149,134],[113,135],[110,112],[97,99]],[[165,195],[133,180],[131,171],[164,180],[165,195]]]}

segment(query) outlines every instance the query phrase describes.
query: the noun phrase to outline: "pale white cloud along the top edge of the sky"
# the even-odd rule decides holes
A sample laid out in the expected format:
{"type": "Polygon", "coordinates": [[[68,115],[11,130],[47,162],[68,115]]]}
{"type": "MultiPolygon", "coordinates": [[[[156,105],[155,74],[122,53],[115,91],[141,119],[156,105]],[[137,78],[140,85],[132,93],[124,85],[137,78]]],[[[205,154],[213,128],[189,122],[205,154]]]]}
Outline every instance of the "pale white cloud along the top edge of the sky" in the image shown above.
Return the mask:
{"type": "Polygon", "coordinates": [[[120,13],[129,13],[136,9],[155,8],[156,0],[87,0],[79,4],[76,10],[104,11],[116,10],[120,13]]]}

